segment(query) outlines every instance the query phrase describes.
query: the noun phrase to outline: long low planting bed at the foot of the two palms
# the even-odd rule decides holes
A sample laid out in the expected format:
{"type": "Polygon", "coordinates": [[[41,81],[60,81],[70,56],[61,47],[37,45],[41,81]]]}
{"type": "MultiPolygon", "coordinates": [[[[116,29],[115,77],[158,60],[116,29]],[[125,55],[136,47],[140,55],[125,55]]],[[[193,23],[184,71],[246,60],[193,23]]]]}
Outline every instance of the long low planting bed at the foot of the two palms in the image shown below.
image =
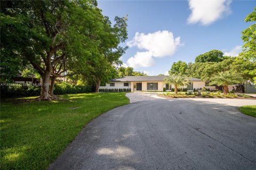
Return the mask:
{"type": "Polygon", "coordinates": [[[256,99],[253,96],[250,95],[244,95],[244,94],[233,94],[229,93],[227,95],[223,95],[220,92],[202,92],[201,97],[198,97],[198,94],[196,92],[193,93],[181,93],[178,94],[166,92],[163,94],[158,94],[157,96],[163,97],[163,98],[231,98],[231,99],[256,99]]]}

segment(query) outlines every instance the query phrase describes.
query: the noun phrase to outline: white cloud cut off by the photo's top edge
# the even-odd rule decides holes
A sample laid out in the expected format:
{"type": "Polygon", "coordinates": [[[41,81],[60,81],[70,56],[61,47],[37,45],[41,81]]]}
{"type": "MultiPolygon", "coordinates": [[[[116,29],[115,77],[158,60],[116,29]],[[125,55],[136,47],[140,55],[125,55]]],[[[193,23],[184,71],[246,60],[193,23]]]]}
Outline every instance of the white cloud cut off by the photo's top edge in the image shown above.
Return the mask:
{"type": "Polygon", "coordinates": [[[224,14],[231,13],[231,2],[231,0],[188,0],[191,14],[187,21],[188,23],[201,22],[203,25],[209,25],[221,19],[224,14]]]}

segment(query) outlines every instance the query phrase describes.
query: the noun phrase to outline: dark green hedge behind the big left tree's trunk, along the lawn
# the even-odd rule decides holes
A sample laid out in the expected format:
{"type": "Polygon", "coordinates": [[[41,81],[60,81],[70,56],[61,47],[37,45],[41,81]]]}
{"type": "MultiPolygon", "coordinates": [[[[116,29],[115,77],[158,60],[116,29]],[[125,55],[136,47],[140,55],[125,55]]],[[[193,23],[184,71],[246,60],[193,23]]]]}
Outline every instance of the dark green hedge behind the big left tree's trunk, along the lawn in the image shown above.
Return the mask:
{"type": "MultiPolygon", "coordinates": [[[[14,86],[1,86],[1,97],[39,96],[40,91],[41,89],[39,86],[22,86],[21,84],[15,84],[14,86]]],[[[92,92],[92,87],[77,86],[62,82],[54,84],[53,94],[82,94],[85,92],[92,92]]]]}

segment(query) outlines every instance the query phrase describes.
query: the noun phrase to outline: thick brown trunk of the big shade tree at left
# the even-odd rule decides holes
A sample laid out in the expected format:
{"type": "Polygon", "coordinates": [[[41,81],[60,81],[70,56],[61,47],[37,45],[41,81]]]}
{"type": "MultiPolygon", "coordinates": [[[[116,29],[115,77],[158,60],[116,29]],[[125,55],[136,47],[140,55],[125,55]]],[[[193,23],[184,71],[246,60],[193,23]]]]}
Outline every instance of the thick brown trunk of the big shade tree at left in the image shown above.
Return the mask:
{"type": "Polygon", "coordinates": [[[50,75],[51,71],[45,71],[44,76],[43,76],[43,82],[41,84],[42,86],[42,91],[41,91],[41,100],[51,100],[50,95],[49,95],[49,87],[50,87],[50,75]]]}

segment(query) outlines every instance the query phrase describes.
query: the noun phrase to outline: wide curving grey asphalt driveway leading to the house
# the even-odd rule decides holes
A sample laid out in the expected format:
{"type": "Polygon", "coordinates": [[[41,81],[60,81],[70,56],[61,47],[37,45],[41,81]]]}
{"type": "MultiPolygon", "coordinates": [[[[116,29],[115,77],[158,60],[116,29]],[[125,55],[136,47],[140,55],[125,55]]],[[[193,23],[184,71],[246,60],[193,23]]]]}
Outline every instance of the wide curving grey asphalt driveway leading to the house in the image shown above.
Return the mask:
{"type": "Polygon", "coordinates": [[[132,104],[88,124],[49,169],[256,169],[256,118],[241,99],[162,99],[132,104]]]}

